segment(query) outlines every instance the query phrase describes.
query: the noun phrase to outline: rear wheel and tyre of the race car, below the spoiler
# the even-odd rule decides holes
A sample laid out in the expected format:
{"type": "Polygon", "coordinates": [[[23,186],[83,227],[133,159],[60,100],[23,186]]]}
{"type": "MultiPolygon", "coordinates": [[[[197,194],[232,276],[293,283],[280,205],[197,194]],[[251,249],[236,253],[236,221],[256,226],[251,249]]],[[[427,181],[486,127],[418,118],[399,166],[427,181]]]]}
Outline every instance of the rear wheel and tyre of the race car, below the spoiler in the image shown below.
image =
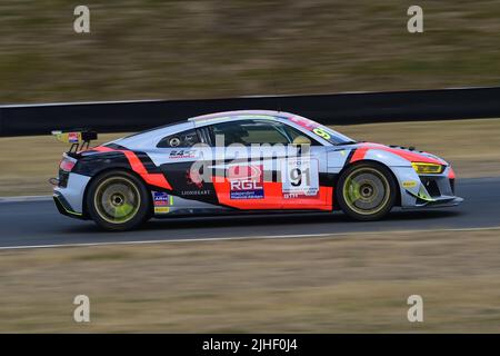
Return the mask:
{"type": "Polygon", "coordinates": [[[92,179],[86,201],[92,220],[110,231],[137,228],[151,216],[151,192],[126,170],[106,171],[92,179]]]}

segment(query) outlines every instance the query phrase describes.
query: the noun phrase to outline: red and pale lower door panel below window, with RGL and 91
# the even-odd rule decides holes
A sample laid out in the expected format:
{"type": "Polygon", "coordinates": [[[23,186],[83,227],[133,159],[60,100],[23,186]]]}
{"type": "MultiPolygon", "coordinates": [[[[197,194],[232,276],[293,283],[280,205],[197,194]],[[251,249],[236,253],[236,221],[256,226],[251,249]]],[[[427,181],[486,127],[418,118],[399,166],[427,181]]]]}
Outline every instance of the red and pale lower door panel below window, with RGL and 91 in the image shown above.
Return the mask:
{"type": "Polygon", "coordinates": [[[224,175],[212,181],[220,204],[239,209],[331,209],[332,188],[320,185],[327,171],[323,147],[313,148],[310,157],[259,160],[269,154],[266,150],[249,152],[250,161],[219,166],[224,175]]]}

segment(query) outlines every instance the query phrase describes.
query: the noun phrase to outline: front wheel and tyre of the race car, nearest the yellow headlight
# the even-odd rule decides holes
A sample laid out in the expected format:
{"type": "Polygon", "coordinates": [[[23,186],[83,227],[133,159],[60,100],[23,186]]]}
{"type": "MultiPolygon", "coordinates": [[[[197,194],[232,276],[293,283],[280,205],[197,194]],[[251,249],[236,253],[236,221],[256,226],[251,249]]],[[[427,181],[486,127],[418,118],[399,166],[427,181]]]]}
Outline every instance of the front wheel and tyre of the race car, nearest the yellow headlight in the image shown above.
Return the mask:
{"type": "Polygon", "coordinates": [[[368,161],[348,167],[336,189],[336,198],[343,212],[362,221],[387,216],[397,197],[398,185],[389,169],[368,161]]]}

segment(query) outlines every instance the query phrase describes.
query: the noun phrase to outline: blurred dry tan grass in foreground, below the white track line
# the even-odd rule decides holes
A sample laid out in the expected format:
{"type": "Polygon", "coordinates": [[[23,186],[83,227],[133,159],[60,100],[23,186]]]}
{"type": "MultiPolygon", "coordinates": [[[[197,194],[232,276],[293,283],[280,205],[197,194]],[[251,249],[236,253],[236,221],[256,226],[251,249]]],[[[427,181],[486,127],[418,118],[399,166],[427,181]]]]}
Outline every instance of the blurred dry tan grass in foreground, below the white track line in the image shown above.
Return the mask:
{"type": "Polygon", "coordinates": [[[488,230],[1,251],[0,332],[499,333],[499,250],[488,230]]]}

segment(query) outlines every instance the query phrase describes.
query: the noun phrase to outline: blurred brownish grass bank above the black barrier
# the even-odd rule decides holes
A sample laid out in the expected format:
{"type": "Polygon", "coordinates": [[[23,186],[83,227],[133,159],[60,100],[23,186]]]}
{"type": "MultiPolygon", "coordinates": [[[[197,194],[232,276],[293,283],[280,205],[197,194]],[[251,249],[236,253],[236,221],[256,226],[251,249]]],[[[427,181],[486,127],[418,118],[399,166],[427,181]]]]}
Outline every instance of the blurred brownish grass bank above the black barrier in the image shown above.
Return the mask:
{"type": "Polygon", "coordinates": [[[2,0],[0,102],[494,86],[499,16],[496,0],[2,0]]]}

